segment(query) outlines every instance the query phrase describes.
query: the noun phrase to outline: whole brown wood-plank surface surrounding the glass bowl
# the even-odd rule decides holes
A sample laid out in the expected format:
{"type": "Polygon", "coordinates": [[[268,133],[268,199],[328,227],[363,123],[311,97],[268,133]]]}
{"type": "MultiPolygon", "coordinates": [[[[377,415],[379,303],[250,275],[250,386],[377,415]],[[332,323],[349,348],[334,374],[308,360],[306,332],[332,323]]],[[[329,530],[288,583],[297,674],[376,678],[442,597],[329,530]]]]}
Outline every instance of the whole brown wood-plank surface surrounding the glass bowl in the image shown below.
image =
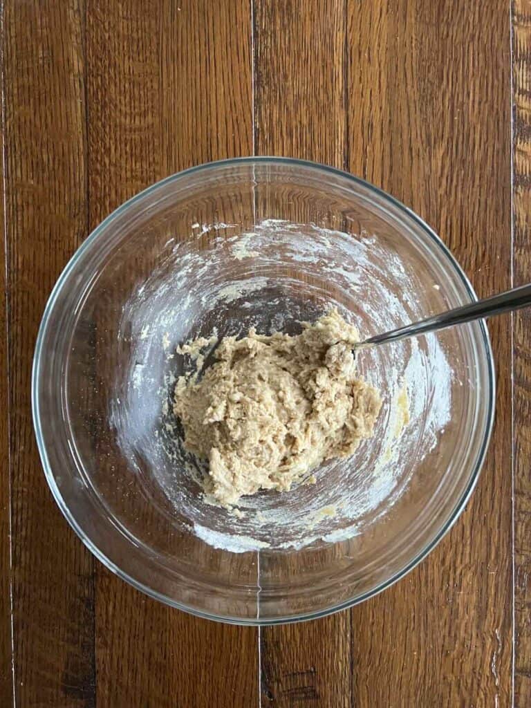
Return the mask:
{"type": "Polygon", "coordinates": [[[105,570],[33,436],[42,309],[146,185],[235,155],[312,159],[406,202],[479,295],[531,280],[531,1],[4,0],[0,705],[531,705],[531,313],[492,321],[496,428],[466,512],[390,590],[224,626],[105,570]]]}

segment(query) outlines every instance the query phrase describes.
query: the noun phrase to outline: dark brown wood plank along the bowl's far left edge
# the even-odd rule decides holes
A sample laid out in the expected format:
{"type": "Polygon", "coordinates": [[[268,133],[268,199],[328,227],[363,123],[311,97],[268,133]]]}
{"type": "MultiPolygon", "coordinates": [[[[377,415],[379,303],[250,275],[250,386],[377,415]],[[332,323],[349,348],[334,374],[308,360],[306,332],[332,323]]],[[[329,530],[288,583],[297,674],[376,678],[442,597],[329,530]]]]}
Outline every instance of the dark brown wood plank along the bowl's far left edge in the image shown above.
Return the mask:
{"type": "Polygon", "coordinates": [[[86,236],[83,4],[4,4],[16,702],[94,704],[93,560],[38,458],[30,371],[52,285],[86,236]]]}

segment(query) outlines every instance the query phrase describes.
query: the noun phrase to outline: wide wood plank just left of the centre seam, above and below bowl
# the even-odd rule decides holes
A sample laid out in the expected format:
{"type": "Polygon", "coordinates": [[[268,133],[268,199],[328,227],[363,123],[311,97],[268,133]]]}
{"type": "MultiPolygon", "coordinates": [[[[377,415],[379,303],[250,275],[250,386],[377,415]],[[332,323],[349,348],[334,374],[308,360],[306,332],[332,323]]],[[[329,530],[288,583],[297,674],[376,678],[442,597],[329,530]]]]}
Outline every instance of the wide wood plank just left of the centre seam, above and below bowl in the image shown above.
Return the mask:
{"type": "MultiPolygon", "coordinates": [[[[192,164],[249,154],[250,6],[91,2],[90,221],[192,164]]],[[[101,705],[256,704],[257,630],[190,617],[97,567],[101,705]]]]}

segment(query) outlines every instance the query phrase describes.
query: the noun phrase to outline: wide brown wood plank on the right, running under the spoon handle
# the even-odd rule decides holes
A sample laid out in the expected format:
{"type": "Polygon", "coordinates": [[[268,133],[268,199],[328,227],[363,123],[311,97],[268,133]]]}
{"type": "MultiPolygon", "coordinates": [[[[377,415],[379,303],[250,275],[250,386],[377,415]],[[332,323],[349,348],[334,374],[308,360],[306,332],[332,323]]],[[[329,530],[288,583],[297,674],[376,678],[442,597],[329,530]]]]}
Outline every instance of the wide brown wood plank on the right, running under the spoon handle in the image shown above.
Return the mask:
{"type": "MultiPolygon", "coordinates": [[[[481,295],[510,286],[508,9],[348,2],[350,171],[432,224],[481,295]]],[[[510,319],[489,329],[497,418],[479,485],[416,571],[352,610],[356,704],[510,705],[510,319]]]]}

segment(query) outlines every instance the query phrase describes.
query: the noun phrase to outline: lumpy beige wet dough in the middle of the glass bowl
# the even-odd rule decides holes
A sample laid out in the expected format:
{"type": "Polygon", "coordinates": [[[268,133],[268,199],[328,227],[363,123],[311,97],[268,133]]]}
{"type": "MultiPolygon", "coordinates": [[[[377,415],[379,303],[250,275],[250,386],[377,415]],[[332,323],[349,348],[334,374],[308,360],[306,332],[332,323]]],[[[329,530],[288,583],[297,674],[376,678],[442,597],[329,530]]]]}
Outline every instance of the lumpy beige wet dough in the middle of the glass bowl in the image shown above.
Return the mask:
{"type": "MultiPolygon", "coordinates": [[[[290,489],[373,433],[381,400],[356,377],[350,345],[358,332],[336,310],[303,328],[297,336],[251,329],[226,337],[200,380],[176,383],[185,447],[208,460],[205,492],[222,506],[258,489],[290,489]]],[[[206,342],[183,351],[199,353],[206,342]]]]}

